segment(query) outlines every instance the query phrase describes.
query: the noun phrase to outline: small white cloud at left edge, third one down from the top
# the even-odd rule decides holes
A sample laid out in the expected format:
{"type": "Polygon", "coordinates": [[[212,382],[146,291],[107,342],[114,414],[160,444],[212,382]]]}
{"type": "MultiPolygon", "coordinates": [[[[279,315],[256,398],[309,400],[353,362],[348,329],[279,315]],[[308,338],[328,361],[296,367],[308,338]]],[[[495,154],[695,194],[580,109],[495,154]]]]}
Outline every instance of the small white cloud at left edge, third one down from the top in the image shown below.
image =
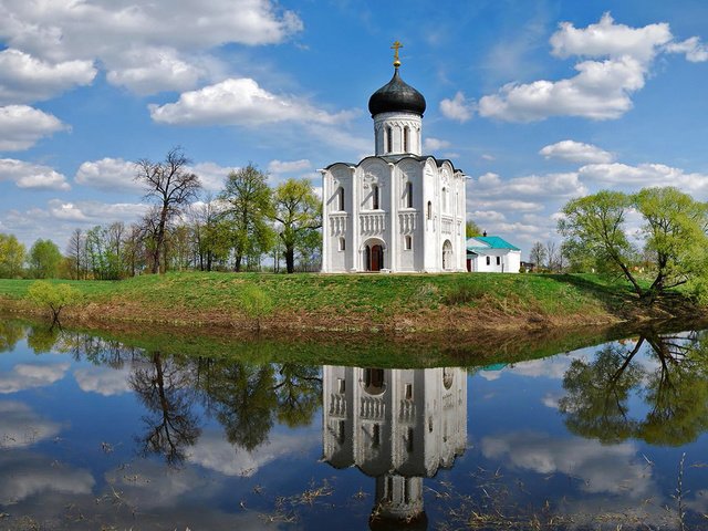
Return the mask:
{"type": "Polygon", "coordinates": [[[42,137],[66,128],[55,116],[27,105],[0,107],[0,152],[28,149],[42,137]]]}

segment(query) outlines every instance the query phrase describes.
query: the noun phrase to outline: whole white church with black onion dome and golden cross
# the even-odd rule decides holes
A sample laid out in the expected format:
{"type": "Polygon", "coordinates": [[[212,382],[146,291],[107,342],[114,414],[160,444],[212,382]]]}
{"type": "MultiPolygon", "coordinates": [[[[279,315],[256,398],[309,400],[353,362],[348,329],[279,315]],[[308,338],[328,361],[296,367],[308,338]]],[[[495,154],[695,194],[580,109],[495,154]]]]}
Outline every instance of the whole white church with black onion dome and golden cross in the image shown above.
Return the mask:
{"type": "Polygon", "coordinates": [[[368,101],[375,155],[322,170],[322,272],[467,270],[465,174],[423,155],[426,102],[398,73],[368,101]]]}

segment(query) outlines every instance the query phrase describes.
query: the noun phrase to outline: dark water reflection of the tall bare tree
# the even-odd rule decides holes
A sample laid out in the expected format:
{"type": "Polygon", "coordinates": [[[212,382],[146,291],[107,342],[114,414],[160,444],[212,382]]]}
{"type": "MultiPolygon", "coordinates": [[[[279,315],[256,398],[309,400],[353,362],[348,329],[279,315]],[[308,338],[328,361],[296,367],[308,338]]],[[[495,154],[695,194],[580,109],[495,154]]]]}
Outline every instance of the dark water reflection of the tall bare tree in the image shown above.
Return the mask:
{"type": "Polygon", "coordinates": [[[190,372],[179,367],[174,357],[150,355],[146,366],[131,376],[131,386],[152,415],[143,417],[147,430],[139,438],[143,454],[164,455],[169,465],[185,460],[186,448],[194,445],[201,429],[192,412],[196,394],[190,372]]]}

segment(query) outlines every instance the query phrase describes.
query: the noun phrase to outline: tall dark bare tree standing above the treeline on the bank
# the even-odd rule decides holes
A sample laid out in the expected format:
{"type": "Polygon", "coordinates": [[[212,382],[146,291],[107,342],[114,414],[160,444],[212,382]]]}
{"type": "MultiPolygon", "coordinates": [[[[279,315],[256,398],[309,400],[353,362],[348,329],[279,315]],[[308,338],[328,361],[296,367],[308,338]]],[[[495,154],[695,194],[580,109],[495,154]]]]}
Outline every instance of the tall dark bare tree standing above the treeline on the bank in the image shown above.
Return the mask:
{"type": "MultiPolygon", "coordinates": [[[[157,208],[157,218],[153,220],[152,231],[153,273],[160,271],[160,257],[164,254],[168,222],[197,197],[201,188],[199,177],[188,171],[188,164],[189,159],[181,147],[170,149],[160,163],[153,163],[146,158],[136,163],[135,180],[144,185],[145,198],[152,200],[157,208]]],[[[166,266],[166,260],[163,260],[163,272],[166,266]]]]}

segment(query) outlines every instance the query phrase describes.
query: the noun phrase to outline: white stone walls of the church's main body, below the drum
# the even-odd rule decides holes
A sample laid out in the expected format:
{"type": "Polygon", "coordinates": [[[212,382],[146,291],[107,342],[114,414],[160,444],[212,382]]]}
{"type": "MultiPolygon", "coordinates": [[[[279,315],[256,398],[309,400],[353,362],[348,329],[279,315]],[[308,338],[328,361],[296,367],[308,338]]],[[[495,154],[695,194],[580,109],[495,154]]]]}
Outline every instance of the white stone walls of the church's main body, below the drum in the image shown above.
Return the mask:
{"type": "Polygon", "coordinates": [[[384,269],[392,272],[465,271],[465,176],[447,162],[438,167],[433,157],[404,157],[397,164],[367,157],[356,167],[335,164],[323,170],[322,270],[363,271],[365,246],[381,244],[384,269]],[[340,209],[340,188],[344,210],[340,209]],[[376,188],[378,208],[373,204],[376,188]],[[445,268],[446,241],[450,258],[445,268]]]}

